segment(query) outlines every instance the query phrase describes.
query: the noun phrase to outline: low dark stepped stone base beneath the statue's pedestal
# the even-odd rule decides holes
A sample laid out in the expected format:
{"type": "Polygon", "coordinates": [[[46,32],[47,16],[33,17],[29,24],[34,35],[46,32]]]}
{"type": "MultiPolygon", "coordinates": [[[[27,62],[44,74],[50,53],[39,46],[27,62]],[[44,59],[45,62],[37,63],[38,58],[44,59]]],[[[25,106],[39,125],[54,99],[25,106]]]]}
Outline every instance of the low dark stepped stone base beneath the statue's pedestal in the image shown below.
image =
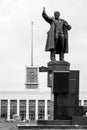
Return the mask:
{"type": "Polygon", "coordinates": [[[18,130],[87,130],[87,117],[73,116],[72,120],[38,120],[36,124],[19,124],[17,128],[18,130]]]}

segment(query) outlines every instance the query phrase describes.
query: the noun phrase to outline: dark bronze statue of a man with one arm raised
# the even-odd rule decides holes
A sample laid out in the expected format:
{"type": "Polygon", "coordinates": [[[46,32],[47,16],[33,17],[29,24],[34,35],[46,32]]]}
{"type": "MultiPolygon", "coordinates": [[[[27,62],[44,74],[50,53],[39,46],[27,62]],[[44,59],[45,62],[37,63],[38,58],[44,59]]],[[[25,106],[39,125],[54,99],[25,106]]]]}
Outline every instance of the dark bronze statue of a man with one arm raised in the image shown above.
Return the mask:
{"type": "Polygon", "coordinates": [[[51,25],[48,31],[45,51],[50,51],[50,59],[55,61],[55,54],[59,54],[59,60],[64,60],[64,53],[68,53],[68,30],[71,26],[67,21],[60,19],[60,12],[55,11],[54,17],[49,17],[43,8],[42,17],[51,25]]]}

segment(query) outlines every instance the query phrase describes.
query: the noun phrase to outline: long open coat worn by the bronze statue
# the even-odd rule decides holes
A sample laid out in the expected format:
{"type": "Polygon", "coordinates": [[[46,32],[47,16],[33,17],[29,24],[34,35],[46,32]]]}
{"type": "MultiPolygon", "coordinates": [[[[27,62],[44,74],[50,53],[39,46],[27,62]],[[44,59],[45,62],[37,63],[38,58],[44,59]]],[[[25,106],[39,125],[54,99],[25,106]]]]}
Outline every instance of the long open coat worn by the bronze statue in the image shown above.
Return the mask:
{"type": "MultiPolygon", "coordinates": [[[[45,47],[45,51],[51,51],[51,49],[55,49],[56,54],[60,54],[61,52],[61,43],[60,41],[57,42],[57,45],[55,45],[55,33],[54,33],[54,29],[55,29],[55,24],[54,21],[52,21],[52,18],[47,16],[46,13],[42,13],[43,18],[51,24],[50,26],[50,30],[47,33],[47,41],[46,41],[46,47],[45,47]],[[51,20],[51,21],[50,21],[51,20]]],[[[61,21],[65,22],[65,20],[60,19],[61,21]]],[[[68,53],[68,31],[70,30],[70,25],[69,28],[67,27],[63,27],[63,33],[64,33],[64,53],[68,53]]]]}

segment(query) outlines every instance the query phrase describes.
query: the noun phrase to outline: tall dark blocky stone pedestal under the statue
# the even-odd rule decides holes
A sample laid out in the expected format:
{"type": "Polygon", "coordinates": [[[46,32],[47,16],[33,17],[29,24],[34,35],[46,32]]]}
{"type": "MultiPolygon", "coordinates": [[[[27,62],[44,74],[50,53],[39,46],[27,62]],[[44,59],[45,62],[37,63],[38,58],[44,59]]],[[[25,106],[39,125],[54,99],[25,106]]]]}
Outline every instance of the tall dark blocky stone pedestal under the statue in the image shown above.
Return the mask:
{"type": "Polygon", "coordinates": [[[78,111],[79,71],[71,71],[70,63],[65,61],[51,61],[48,69],[48,87],[54,96],[53,119],[71,120],[72,116],[82,115],[78,111]]]}

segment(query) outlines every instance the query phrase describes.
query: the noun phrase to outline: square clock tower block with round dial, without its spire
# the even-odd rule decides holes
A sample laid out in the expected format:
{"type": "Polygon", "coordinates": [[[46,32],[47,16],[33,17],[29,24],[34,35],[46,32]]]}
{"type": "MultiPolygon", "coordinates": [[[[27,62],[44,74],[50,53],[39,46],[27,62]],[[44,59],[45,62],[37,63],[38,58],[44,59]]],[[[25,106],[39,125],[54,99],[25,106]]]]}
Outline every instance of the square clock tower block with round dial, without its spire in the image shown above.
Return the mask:
{"type": "Polygon", "coordinates": [[[26,67],[26,89],[37,89],[38,88],[38,72],[39,67],[27,66],[26,67]]]}

